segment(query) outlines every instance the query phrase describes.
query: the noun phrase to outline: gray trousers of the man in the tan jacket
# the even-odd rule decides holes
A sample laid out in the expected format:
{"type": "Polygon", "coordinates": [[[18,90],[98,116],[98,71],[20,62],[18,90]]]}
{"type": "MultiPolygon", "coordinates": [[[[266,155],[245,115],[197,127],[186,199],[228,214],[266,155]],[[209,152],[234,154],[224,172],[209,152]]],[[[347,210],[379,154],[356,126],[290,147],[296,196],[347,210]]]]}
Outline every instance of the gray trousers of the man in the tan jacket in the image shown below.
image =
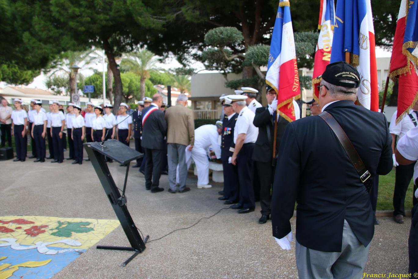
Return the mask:
{"type": "Polygon", "coordinates": [[[168,160],[168,182],[170,189],[176,190],[176,170],[178,164],[178,184],[179,190],[186,188],[187,166],[186,166],[186,146],[178,143],[167,144],[168,160]],[[178,159],[178,160],[177,160],[178,159]]]}

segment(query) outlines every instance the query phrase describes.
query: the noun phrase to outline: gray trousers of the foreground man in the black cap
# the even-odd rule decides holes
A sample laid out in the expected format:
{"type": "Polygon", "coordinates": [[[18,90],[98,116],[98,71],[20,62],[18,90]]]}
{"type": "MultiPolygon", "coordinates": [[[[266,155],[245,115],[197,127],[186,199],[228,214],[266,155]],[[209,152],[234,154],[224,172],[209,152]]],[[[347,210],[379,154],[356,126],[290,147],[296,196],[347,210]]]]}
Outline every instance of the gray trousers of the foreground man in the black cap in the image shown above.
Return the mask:
{"type": "Polygon", "coordinates": [[[364,247],[344,220],[341,252],[306,248],[296,241],[296,266],[303,279],[359,279],[367,262],[370,243],[364,247]]]}

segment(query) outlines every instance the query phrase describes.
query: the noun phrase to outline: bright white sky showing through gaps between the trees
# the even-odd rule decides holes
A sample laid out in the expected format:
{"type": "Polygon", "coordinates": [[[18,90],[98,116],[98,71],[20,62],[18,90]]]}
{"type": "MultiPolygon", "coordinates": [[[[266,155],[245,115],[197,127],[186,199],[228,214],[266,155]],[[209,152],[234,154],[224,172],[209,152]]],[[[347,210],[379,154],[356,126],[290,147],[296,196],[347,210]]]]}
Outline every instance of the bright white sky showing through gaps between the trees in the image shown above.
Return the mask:
{"type": "MultiPolygon", "coordinates": [[[[376,58],[381,58],[381,57],[390,57],[391,55],[391,51],[386,51],[384,49],[381,49],[379,47],[376,48],[376,58]]],[[[99,62],[97,64],[92,64],[90,65],[91,68],[93,69],[97,69],[98,71],[102,71],[102,63],[99,62]]],[[[104,64],[105,69],[107,69],[107,64],[104,64]]],[[[178,61],[174,58],[174,57],[169,57],[168,59],[166,59],[165,63],[158,63],[157,67],[160,67],[162,69],[170,69],[170,68],[178,68],[178,67],[182,67],[180,63],[178,63],[178,61]]],[[[201,62],[195,61],[195,63],[193,64],[193,68],[195,68],[196,70],[201,70],[204,69],[204,66],[201,62]]],[[[91,69],[81,69],[79,70],[79,72],[81,72],[84,77],[88,77],[90,75],[93,74],[93,71],[91,69]]],[[[214,71],[201,71],[199,73],[207,73],[207,72],[214,72],[214,71]]],[[[47,76],[44,74],[39,75],[38,77],[36,77],[35,79],[33,79],[33,82],[31,82],[30,84],[26,85],[25,87],[28,88],[39,88],[39,89],[43,89],[43,90],[47,90],[46,86],[45,86],[45,81],[47,79],[47,76]]],[[[0,87],[4,88],[6,86],[9,86],[9,84],[5,83],[5,82],[0,82],[0,87]]],[[[12,85],[14,86],[14,85],[12,85]]]]}

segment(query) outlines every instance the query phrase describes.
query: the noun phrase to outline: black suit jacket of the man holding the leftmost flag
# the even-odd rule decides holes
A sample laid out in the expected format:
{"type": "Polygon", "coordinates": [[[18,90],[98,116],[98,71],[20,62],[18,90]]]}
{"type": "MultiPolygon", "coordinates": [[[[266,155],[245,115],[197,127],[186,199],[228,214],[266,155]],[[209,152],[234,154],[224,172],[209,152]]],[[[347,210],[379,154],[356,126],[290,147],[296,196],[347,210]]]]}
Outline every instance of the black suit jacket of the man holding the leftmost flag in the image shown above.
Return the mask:
{"type": "MultiPolygon", "coordinates": [[[[255,110],[254,121],[255,127],[258,127],[258,137],[255,142],[252,159],[259,162],[267,163],[273,158],[273,141],[274,141],[274,123],[273,115],[270,114],[267,107],[257,108],[255,110]]],[[[276,137],[276,154],[280,147],[280,141],[285,133],[286,126],[289,121],[283,117],[279,117],[277,123],[276,137]]],[[[280,155],[279,155],[280,156],[280,155]]]]}

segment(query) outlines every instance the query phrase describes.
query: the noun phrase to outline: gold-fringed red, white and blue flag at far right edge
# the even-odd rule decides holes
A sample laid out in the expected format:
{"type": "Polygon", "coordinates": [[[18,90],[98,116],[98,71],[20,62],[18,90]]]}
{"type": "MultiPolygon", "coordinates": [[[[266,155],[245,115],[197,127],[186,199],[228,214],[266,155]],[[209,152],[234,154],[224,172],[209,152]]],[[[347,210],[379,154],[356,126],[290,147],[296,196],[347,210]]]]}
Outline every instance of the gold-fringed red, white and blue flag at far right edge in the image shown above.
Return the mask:
{"type": "Polygon", "coordinates": [[[396,123],[418,101],[418,2],[402,0],[390,59],[390,77],[398,79],[396,123]]]}

